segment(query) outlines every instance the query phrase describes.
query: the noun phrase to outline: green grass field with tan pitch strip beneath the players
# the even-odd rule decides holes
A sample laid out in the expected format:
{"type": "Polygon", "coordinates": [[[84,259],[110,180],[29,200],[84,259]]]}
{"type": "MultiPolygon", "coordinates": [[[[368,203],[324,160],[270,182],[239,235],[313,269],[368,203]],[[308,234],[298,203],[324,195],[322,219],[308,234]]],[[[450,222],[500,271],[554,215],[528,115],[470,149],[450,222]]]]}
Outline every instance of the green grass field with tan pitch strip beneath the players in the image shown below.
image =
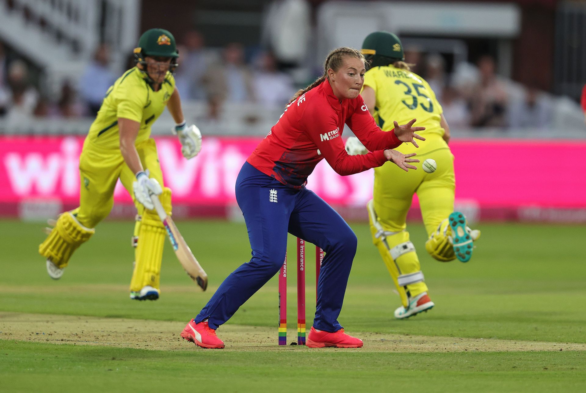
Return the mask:
{"type": "MultiPolygon", "coordinates": [[[[278,347],[275,277],[218,330],[224,351],[195,348],[178,334],[224,277],[250,258],[246,228],[219,221],[178,226],[210,277],[208,291],[197,289],[166,245],[161,299],[138,302],[128,299],[132,222],[101,223],[54,282],[37,253],[41,225],[2,221],[2,391],[178,391],[192,385],[217,391],[417,386],[537,392],[578,391],[586,383],[586,265],[577,226],[482,225],[473,259],[464,264],[432,260],[424,252],[423,226],[410,225],[436,306],[399,321],[392,317],[399,299],[369,230],[352,225],[359,249],[340,322],[364,338],[363,348],[278,347]]],[[[306,260],[310,326],[312,252],[306,260]]],[[[289,269],[289,342],[296,334],[295,283],[289,269]]]]}

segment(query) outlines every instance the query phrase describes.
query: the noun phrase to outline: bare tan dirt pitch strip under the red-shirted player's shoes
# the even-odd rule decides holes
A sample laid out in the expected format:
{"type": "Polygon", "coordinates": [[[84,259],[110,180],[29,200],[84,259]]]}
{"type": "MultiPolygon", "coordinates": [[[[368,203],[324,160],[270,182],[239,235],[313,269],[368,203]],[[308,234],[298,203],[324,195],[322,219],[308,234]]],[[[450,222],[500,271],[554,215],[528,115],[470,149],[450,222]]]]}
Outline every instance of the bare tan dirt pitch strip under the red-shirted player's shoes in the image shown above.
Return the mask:
{"type": "MultiPolygon", "coordinates": [[[[202,350],[180,338],[179,334],[183,327],[185,322],[0,312],[1,340],[105,345],[163,351],[202,350]]],[[[295,345],[279,347],[276,327],[227,324],[222,326],[218,333],[226,343],[225,350],[313,350],[295,345]]],[[[364,340],[364,347],[359,351],[369,352],[586,351],[586,344],[582,343],[353,333],[364,340]]],[[[296,334],[296,329],[289,330],[289,343],[297,339],[294,337],[296,334]]]]}

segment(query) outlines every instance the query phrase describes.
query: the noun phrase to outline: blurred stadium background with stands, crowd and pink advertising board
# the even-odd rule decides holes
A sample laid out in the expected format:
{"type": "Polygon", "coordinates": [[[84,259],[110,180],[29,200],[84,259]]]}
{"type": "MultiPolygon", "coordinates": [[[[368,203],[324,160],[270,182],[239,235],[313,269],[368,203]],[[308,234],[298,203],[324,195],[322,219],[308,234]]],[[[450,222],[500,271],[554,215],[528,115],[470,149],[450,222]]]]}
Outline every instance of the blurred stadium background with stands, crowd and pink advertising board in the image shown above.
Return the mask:
{"type": "MultiPolygon", "coordinates": [[[[386,29],[444,106],[457,209],[471,221],[586,222],[583,2],[6,0],[0,10],[2,216],[44,219],[77,204],[92,116],[132,66],[139,34],[161,26],[180,45],[186,117],[204,135],[188,162],[165,137],[168,112],[153,127],[177,218],[238,219],[234,179],[288,98],[328,50],[386,29]]],[[[371,172],[342,178],[322,162],[309,187],[366,219],[371,172]]],[[[112,216],[132,216],[121,187],[116,198],[112,216]]]]}

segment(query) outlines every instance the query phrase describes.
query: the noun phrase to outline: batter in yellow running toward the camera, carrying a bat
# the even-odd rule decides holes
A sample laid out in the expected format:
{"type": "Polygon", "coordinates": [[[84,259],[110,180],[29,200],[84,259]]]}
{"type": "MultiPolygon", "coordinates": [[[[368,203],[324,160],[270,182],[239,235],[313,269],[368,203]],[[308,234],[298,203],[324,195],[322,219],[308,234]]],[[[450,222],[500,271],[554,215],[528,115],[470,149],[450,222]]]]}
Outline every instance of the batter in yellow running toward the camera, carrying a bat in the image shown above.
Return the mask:
{"type": "MultiPolygon", "coordinates": [[[[173,35],[163,29],[145,32],[134,50],[137,65],[105,92],[100,111],[83,144],[80,156],[80,205],[64,212],[39,246],[49,276],[59,279],[73,252],[87,242],[114,204],[118,179],[132,195],[138,215],[132,245],[135,266],[130,297],[159,297],[159,275],[165,227],[151,199],[158,196],[166,215],[171,215],[171,189],[163,186],[151,126],[167,107],[176,126],[185,158],[202,147],[196,126],[186,126],[173,70],[179,53],[173,35]]],[[[206,282],[207,283],[207,282],[206,282]]]]}

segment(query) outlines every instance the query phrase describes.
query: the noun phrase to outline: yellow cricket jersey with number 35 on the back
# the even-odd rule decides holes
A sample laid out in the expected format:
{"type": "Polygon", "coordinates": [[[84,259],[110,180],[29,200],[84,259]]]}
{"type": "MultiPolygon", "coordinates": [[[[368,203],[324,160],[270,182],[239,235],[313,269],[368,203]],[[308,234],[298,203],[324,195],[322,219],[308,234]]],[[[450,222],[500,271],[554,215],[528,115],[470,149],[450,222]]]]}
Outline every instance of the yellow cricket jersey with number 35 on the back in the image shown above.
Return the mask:
{"type": "MultiPolygon", "coordinates": [[[[364,74],[364,86],[376,94],[373,117],[383,131],[393,129],[393,121],[406,124],[417,118],[415,126],[425,127],[418,134],[427,138],[417,141],[417,153],[447,147],[442,140],[444,128],[440,126],[443,110],[430,85],[417,74],[392,65],[374,67],[364,74]],[[439,137],[439,138],[438,138],[439,137]]],[[[411,144],[402,144],[396,150],[411,152],[411,144]]]]}

